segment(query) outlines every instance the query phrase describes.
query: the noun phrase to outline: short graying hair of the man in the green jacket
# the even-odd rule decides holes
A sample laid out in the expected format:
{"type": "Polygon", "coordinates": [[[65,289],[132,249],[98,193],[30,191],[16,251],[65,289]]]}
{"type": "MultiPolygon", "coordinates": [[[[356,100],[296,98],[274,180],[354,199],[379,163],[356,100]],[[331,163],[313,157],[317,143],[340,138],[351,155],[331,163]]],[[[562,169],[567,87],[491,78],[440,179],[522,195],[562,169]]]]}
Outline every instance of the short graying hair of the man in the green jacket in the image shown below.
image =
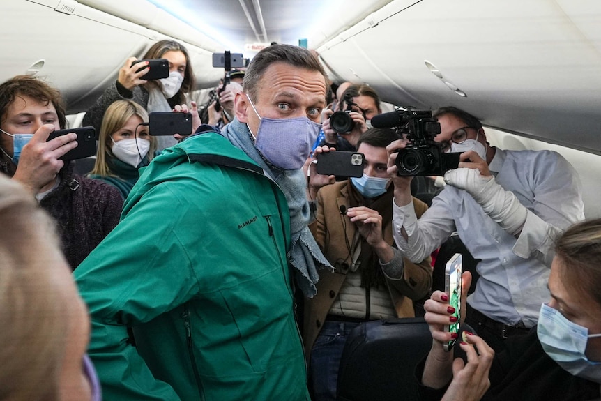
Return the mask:
{"type": "Polygon", "coordinates": [[[257,102],[257,87],[265,71],[273,63],[287,63],[296,68],[318,71],[324,76],[326,86],[328,76],[324,67],[309,50],[294,45],[271,45],[265,47],[252,58],[244,75],[244,92],[253,102],[257,102]]]}

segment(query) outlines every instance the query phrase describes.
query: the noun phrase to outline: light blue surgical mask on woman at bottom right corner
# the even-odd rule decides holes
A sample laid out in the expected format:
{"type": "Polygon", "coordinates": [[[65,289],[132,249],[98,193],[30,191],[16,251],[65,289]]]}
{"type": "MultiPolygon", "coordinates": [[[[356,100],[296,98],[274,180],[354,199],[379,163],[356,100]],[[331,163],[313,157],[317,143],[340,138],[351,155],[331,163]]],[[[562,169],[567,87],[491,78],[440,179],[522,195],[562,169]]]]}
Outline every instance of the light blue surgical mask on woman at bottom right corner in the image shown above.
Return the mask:
{"type": "Polygon", "coordinates": [[[542,349],[564,370],[571,374],[601,383],[601,362],[589,361],[584,355],[589,338],[588,328],[565,319],[558,310],[544,303],[538,317],[538,340],[542,349]]]}

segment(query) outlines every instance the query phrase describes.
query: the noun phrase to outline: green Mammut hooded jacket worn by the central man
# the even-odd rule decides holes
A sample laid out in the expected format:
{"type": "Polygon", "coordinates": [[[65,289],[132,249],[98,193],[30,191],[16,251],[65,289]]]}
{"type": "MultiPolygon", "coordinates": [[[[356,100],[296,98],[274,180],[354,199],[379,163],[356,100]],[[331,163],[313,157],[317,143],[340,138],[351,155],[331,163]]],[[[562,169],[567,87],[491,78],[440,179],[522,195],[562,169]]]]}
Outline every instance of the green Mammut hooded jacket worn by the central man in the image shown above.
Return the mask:
{"type": "Polygon", "coordinates": [[[155,158],[75,270],[105,400],[310,400],[289,242],[284,194],[221,135],[155,158]]]}

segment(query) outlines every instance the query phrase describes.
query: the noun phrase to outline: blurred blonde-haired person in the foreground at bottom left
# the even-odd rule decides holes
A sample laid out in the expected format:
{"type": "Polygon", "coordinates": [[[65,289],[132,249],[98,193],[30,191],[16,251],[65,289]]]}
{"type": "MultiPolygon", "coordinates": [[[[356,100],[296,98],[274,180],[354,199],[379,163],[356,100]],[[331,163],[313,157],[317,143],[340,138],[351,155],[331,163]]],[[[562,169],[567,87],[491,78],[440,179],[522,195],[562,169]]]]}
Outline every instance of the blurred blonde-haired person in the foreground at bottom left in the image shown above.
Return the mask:
{"type": "Polygon", "coordinates": [[[90,321],[50,216],[0,176],[0,400],[100,401],[90,321]]]}

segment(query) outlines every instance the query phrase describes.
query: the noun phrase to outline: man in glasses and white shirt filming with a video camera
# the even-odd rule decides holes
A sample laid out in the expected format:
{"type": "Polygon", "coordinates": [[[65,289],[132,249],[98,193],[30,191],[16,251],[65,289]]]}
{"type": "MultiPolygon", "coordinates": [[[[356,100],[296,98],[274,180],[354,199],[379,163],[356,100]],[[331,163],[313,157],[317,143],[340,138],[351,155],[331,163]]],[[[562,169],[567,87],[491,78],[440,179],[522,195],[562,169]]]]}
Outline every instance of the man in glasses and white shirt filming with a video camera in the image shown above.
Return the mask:
{"type": "Polygon", "coordinates": [[[466,323],[495,350],[503,340],[535,326],[557,234],[584,219],[580,181],[570,163],[552,151],[505,151],[490,146],[482,123],[455,107],[433,113],[436,142],[461,152],[459,168],[418,220],[411,177],[397,176],[394,160],[406,142],[388,146],[395,185],[393,234],[411,261],[421,260],[457,232],[478,263],[480,279],[468,298],[466,323]]]}

